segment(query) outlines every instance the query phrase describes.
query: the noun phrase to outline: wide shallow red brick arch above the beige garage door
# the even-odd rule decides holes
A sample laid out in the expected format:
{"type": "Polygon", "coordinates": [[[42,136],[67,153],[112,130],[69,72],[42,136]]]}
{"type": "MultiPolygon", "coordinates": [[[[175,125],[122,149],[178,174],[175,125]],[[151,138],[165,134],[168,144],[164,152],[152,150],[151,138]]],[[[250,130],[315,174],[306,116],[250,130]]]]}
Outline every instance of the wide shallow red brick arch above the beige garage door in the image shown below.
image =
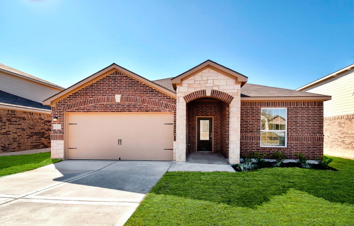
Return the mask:
{"type": "Polygon", "coordinates": [[[70,111],[75,108],[80,108],[88,105],[93,105],[93,104],[103,104],[103,103],[134,103],[134,104],[145,104],[145,105],[150,105],[150,106],[155,106],[158,108],[164,108],[166,110],[174,111],[175,110],[175,105],[165,103],[159,100],[152,100],[148,98],[142,98],[142,97],[131,97],[131,96],[122,96],[120,98],[119,102],[115,101],[115,97],[109,96],[109,97],[96,97],[96,98],[91,98],[91,99],[85,99],[85,100],[80,100],[74,103],[67,104],[63,106],[63,111],[70,111]]]}

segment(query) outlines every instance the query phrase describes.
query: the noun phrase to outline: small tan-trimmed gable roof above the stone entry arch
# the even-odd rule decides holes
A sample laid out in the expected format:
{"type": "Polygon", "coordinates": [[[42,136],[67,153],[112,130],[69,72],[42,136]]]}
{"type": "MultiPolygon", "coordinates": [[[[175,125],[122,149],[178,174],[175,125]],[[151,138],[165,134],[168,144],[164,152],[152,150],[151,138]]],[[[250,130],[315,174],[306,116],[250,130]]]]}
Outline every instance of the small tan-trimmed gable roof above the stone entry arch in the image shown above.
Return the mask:
{"type": "Polygon", "coordinates": [[[181,75],[172,78],[171,81],[172,81],[173,88],[176,89],[176,84],[181,83],[183,78],[193,75],[194,73],[198,73],[200,70],[202,70],[205,67],[209,67],[215,71],[220,71],[228,74],[230,77],[237,79],[238,82],[241,82],[241,87],[247,82],[248,77],[242,75],[241,73],[231,70],[230,68],[224,67],[212,60],[206,60],[202,62],[200,65],[197,65],[192,69],[189,69],[188,71],[182,73],[181,75]]]}

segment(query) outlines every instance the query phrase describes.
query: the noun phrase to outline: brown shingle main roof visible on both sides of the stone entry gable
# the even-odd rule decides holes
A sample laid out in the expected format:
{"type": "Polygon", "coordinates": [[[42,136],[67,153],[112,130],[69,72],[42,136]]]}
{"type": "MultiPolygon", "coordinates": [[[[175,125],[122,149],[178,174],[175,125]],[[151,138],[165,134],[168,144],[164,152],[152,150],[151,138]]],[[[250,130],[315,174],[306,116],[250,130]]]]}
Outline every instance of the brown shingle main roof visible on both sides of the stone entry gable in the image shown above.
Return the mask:
{"type": "MultiPolygon", "coordinates": [[[[163,86],[173,92],[171,78],[164,78],[153,81],[160,86],[163,86]]],[[[246,83],[241,87],[241,97],[318,97],[326,96],[316,93],[302,92],[292,89],[283,89],[270,86],[262,86],[256,84],[246,83]]]]}

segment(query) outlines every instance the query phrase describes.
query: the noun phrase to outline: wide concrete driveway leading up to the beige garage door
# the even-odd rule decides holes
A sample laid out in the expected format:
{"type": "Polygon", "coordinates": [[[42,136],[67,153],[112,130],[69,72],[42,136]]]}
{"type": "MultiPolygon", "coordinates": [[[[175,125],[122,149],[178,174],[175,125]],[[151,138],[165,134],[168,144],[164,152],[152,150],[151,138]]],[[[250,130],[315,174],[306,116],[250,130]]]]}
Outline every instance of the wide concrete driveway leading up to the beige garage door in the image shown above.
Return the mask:
{"type": "Polygon", "coordinates": [[[0,225],[124,225],[171,164],[63,161],[0,177],[0,225]]]}

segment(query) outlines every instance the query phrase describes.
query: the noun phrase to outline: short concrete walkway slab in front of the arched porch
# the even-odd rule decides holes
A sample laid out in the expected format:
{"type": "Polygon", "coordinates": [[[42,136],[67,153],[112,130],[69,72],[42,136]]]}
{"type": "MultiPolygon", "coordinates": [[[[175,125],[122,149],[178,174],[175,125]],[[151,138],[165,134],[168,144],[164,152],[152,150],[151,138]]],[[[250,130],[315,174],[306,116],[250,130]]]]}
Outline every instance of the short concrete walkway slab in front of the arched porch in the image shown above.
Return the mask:
{"type": "Polygon", "coordinates": [[[205,163],[190,163],[190,162],[175,162],[169,169],[173,171],[200,171],[200,172],[236,172],[230,165],[226,164],[205,164],[205,163]]]}

